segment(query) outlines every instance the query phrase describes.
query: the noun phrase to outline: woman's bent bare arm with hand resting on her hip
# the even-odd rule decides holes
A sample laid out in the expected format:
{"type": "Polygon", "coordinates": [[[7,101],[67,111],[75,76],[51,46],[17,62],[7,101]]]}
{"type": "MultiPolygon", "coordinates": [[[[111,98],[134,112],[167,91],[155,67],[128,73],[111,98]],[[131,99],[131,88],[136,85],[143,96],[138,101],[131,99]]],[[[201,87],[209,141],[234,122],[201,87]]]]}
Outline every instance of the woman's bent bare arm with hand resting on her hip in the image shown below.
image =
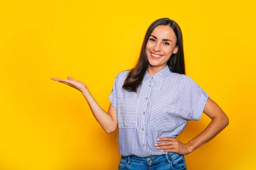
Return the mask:
{"type": "Polygon", "coordinates": [[[212,121],[198,136],[187,144],[183,144],[175,138],[160,138],[158,141],[165,142],[156,144],[157,149],[163,150],[164,152],[175,152],[181,155],[187,155],[209,142],[229,124],[227,115],[221,110],[217,103],[210,98],[207,99],[204,113],[209,116],[212,121]]]}

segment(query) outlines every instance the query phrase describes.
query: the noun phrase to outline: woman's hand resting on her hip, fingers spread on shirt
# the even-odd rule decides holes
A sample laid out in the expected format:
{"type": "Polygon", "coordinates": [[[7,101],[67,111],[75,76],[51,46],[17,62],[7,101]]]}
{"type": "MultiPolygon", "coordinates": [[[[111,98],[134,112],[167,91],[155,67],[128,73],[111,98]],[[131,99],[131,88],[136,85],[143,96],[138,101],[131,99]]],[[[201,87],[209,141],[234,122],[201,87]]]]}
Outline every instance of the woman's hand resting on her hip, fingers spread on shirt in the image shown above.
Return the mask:
{"type": "Polygon", "coordinates": [[[174,152],[180,155],[187,155],[193,151],[187,144],[181,143],[176,138],[165,137],[157,139],[157,141],[165,141],[155,144],[157,149],[163,150],[163,152],[174,152]]]}

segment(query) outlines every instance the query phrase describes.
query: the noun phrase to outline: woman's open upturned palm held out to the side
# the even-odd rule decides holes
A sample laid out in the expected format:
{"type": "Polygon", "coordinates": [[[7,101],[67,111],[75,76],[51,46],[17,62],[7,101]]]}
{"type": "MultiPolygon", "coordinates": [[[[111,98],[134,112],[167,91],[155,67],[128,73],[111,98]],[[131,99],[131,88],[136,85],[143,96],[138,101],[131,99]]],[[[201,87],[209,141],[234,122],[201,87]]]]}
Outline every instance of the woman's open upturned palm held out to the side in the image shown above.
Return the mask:
{"type": "Polygon", "coordinates": [[[87,90],[87,85],[84,84],[84,82],[81,82],[79,80],[75,80],[72,77],[67,77],[67,79],[58,79],[58,78],[51,78],[54,81],[64,83],[66,85],[69,85],[70,87],[73,87],[82,93],[87,90]]]}

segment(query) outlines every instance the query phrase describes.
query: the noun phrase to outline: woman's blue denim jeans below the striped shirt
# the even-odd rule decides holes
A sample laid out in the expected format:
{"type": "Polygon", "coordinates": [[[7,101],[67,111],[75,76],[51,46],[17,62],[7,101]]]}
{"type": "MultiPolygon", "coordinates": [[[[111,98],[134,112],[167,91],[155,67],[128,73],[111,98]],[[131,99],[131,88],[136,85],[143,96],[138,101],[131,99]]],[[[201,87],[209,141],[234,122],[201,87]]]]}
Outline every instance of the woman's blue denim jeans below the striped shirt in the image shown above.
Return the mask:
{"type": "Polygon", "coordinates": [[[186,162],[178,153],[146,158],[121,156],[119,170],[186,170],[186,162]]]}

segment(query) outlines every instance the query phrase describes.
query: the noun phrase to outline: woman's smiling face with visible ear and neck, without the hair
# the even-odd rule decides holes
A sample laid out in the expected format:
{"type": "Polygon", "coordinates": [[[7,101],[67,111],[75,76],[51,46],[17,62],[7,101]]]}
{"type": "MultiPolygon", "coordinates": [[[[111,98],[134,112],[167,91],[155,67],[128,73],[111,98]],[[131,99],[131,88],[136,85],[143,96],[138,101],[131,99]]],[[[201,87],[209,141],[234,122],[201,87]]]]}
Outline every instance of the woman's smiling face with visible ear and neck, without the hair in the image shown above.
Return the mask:
{"type": "Polygon", "coordinates": [[[176,41],[176,35],[170,26],[157,26],[146,45],[149,68],[163,69],[171,55],[178,51],[176,41]]]}

